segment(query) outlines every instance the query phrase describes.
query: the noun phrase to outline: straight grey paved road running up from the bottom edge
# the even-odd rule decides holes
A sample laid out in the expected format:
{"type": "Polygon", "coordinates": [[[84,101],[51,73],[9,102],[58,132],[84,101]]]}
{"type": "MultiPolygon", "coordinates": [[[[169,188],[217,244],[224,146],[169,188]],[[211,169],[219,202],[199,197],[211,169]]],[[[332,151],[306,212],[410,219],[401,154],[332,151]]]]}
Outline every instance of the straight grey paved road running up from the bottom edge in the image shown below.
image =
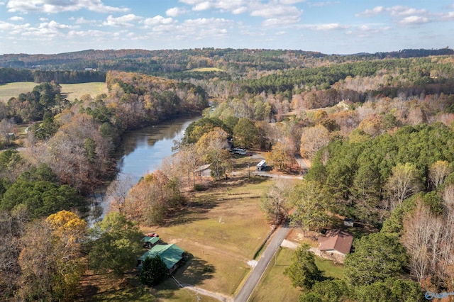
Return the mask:
{"type": "Polygon", "coordinates": [[[263,252],[262,257],[258,260],[258,264],[254,267],[253,272],[249,274],[248,280],[246,280],[245,284],[243,285],[243,289],[240,290],[238,295],[236,296],[236,302],[247,302],[250,294],[253,293],[255,286],[257,286],[258,281],[260,281],[260,277],[262,276],[263,272],[267,268],[268,264],[270,263],[272,257],[275,255],[277,248],[280,247],[282,240],[284,240],[287,233],[289,233],[288,226],[281,226],[273,235],[272,240],[268,244],[265,252],[263,252]]]}

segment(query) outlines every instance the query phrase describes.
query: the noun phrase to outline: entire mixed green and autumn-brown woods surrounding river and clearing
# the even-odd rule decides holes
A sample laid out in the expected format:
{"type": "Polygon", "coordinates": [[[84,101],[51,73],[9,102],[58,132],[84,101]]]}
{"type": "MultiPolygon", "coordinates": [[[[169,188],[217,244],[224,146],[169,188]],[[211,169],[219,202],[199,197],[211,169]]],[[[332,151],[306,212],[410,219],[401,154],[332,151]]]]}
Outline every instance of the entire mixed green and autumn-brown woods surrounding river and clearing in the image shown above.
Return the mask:
{"type": "Polygon", "coordinates": [[[71,300],[82,259],[121,277],[140,250],[138,225],[170,223],[187,202],[183,188],[204,189],[196,169],[209,164],[215,184],[233,171],[229,143],[266,150],[279,173],[298,169],[295,155],[311,162],[304,181],[275,181],[264,194],[270,223],[319,232],[338,215],[376,230],[355,239],[343,280],[324,278],[301,248],[301,265],[287,270],[305,289],[300,301],[421,301],[422,289],[454,290],[453,50],[87,50],[1,55],[0,65],[0,83],[40,83],[0,104],[2,298],[71,300]],[[72,103],[60,86],[104,81],[107,94],[72,103]],[[122,135],[201,111],[179,152],[128,194],[116,184],[112,213],[87,230],[87,197],[116,172],[122,135]],[[18,152],[11,133],[24,123],[18,152]]]}

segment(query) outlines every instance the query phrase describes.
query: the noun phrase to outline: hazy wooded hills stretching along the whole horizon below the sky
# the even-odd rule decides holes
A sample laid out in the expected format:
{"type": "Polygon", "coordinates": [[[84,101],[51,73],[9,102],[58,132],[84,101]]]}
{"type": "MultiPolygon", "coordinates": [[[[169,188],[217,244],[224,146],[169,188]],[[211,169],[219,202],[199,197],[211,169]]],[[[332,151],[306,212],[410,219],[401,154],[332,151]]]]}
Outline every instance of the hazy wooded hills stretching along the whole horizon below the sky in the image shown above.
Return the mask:
{"type": "Polygon", "coordinates": [[[112,69],[164,76],[202,67],[217,67],[233,76],[249,72],[270,72],[300,67],[320,67],[341,62],[373,61],[389,58],[452,55],[453,50],[400,50],[376,54],[325,55],[302,50],[217,49],[193,50],[84,50],[57,55],[0,55],[1,67],[40,70],[112,69]]]}

